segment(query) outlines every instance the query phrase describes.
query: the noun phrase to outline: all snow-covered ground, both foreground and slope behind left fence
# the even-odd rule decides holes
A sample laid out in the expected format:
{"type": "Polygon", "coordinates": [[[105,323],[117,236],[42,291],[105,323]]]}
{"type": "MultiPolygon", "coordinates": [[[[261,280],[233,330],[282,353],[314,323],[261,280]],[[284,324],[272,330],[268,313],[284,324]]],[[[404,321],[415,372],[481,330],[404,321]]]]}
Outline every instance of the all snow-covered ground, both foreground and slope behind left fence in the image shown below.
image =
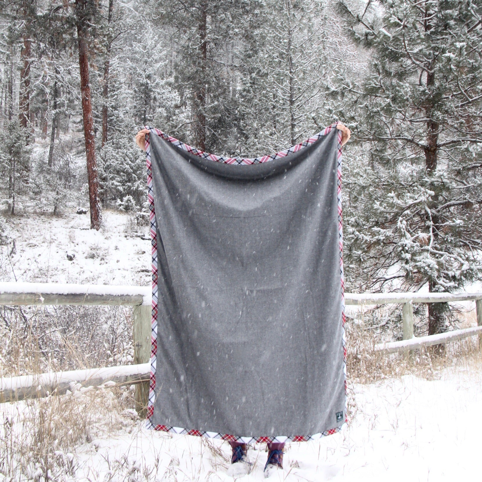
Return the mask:
{"type": "MultiPolygon", "coordinates": [[[[63,217],[10,219],[16,254],[8,256],[11,246],[8,252],[2,247],[2,281],[149,286],[147,226],[138,227],[132,215],[116,211],[104,211],[103,218],[105,227],[98,232],[89,229],[88,214],[75,214],[75,209],[63,217]],[[75,254],[73,261],[67,252],[75,254]]],[[[291,443],[284,471],[269,480],[473,480],[480,473],[480,355],[459,359],[433,372],[430,380],[412,374],[350,385],[349,401],[351,416],[342,432],[321,441],[291,443]]],[[[0,423],[21,422],[29,413],[24,403],[0,404],[0,423]]],[[[102,397],[97,403],[104,403],[102,397]]],[[[72,454],[59,452],[74,468],[65,480],[233,480],[227,475],[227,443],[144,426],[135,416],[119,415],[113,430],[72,447],[72,454]]],[[[252,447],[252,473],[239,480],[264,480],[264,449],[264,444],[252,447]]],[[[4,480],[0,474],[0,482],[4,480]]]]}

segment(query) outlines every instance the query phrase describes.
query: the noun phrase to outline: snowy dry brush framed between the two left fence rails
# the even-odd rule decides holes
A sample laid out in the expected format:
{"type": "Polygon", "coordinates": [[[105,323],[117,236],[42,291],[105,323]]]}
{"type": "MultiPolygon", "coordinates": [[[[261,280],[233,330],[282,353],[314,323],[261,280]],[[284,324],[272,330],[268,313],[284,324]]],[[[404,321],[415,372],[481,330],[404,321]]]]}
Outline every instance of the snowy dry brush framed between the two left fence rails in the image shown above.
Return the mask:
{"type": "Polygon", "coordinates": [[[129,364],[132,308],[0,307],[0,376],[129,364]]]}

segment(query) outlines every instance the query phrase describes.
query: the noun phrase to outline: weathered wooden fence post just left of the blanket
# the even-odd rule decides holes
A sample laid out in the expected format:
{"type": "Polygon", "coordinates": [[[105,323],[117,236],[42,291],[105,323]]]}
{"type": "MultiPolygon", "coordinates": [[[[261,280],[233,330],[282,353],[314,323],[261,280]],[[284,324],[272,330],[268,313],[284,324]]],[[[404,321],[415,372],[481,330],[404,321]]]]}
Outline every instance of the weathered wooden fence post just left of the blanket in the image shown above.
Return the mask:
{"type": "MultiPolygon", "coordinates": [[[[150,360],[151,348],[151,307],[149,305],[134,305],[134,363],[147,363],[150,360]]],[[[149,382],[138,383],[134,391],[135,410],[141,418],[147,416],[147,401],[149,400],[149,382]]]]}

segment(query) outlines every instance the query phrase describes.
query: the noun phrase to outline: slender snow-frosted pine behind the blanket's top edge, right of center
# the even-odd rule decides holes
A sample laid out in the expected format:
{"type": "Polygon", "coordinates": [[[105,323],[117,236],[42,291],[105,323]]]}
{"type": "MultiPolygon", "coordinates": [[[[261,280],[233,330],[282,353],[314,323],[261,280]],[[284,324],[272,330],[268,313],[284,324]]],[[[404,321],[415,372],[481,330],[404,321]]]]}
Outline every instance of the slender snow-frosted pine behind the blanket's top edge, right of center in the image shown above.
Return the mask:
{"type": "Polygon", "coordinates": [[[321,0],[275,1],[267,9],[263,88],[269,96],[272,138],[294,145],[314,129],[309,115],[320,101],[323,75],[321,0]]]}

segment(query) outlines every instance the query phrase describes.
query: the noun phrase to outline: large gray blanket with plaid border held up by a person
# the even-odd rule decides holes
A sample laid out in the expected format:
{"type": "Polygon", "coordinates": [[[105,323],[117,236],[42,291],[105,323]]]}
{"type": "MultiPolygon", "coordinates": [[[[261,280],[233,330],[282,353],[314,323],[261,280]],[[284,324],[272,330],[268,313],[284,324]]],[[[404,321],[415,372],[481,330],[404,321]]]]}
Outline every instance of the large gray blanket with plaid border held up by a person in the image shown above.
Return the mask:
{"type": "Polygon", "coordinates": [[[150,428],[310,440],[345,421],[341,147],[256,159],[153,128],[150,428]]]}

